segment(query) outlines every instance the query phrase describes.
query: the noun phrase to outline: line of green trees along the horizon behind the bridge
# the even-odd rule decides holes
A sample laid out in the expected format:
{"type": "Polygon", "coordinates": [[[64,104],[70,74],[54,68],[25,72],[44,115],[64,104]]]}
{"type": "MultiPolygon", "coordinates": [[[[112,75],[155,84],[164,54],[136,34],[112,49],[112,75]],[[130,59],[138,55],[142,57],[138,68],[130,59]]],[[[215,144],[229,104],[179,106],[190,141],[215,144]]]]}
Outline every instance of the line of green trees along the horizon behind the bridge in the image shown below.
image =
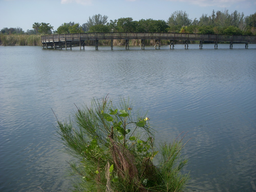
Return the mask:
{"type": "Polygon", "coordinates": [[[2,34],[65,34],[65,33],[94,33],[94,32],[175,32],[227,35],[256,35],[256,12],[249,16],[235,10],[229,14],[225,11],[212,11],[211,15],[202,14],[194,20],[189,18],[186,11],[173,12],[167,21],[141,19],[134,21],[132,17],[110,20],[101,14],[90,16],[87,23],[63,23],[53,30],[49,23],[34,23],[31,30],[22,28],[3,28],[2,34]]]}

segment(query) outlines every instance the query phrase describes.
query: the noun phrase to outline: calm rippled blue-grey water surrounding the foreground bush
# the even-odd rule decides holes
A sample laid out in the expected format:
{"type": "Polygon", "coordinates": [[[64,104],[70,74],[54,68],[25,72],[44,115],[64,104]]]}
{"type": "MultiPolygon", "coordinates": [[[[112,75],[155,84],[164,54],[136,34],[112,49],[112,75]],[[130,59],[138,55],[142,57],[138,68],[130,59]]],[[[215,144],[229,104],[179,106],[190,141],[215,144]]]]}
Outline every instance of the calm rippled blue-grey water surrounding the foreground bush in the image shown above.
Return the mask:
{"type": "Polygon", "coordinates": [[[0,191],[68,191],[59,120],[92,97],[134,98],[159,141],[182,131],[190,191],[256,191],[256,45],[0,47],[0,191]]]}

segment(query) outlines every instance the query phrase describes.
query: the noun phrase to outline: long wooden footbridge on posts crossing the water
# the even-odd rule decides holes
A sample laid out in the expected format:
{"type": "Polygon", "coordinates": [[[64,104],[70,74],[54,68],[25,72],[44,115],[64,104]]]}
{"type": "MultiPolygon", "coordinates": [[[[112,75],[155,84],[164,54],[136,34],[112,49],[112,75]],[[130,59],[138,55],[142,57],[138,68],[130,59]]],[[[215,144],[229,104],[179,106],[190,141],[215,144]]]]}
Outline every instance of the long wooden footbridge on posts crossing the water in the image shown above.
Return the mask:
{"type": "Polygon", "coordinates": [[[144,49],[145,39],[154,39],[155,48],[158,45],[160,48],[161,40],[169,40],[170,48],[174,48],[175,40],[182,40],[185,43],[185,48],[188,48],[189,41],[199,41],[199,48],[202,48],[204,41],[214,42],[214,48],[218,48],[219,42],[230,42],[229,47],[232,49],[233,43],[245,43],[245,48],[248,48],[248,43],[256,43],[256,36],[253,35],[212,35],[212,34],[192,34],[192,33],[141,33],[141,32],[112,32],[112,33],[73,33],[73,34],[56,34],[56,35],[44,35],[41,36],[43,48],[61,48],[72,46],[85,46],[86,40],[95,41],[95,49],[98,49],[99,40],[111,40],[111,49],[113,49],[114,39],[124,39],[125,49],[129,49],[130,39],[140,39],[141,48],[144,49]]]}

